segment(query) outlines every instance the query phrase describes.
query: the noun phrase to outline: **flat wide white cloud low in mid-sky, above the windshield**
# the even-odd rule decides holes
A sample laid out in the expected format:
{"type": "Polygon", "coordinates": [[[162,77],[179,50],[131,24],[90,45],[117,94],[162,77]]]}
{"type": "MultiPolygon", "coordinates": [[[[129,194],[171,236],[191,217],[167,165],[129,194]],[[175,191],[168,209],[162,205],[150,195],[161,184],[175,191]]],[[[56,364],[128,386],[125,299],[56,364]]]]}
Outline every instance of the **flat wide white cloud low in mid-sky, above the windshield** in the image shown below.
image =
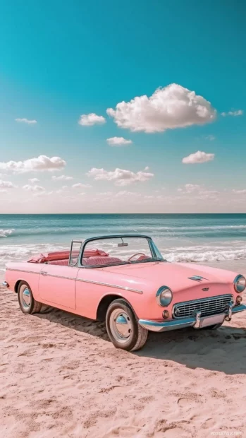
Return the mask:
{"type": "Polygon", "coordinates": [[[116,186],[128,186],[133,182],[144,182],[148,181],[150,178],[154,177],[153,173],[147,172],[131,172],[130,170],[118,169],[108,172],[104,169],[97,169],[93,167],[88,173],[88,177],[92,177],[97,180],[105,179],[106,181],[112,181],[116,186]]]}

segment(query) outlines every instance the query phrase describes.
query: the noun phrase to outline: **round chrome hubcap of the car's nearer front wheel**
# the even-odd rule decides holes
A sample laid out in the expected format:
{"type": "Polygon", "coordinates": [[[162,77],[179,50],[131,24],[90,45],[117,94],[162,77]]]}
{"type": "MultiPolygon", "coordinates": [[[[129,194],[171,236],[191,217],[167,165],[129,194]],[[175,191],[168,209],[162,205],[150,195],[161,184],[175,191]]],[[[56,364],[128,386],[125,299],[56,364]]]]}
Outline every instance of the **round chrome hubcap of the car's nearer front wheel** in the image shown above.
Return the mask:
{"type": "Polygon", "coordinates": [[[122,309],[115,309],[109,319],[111,333],[116,341],[125,343],[133,333],[133,324],[128,314],[122,309]]]}

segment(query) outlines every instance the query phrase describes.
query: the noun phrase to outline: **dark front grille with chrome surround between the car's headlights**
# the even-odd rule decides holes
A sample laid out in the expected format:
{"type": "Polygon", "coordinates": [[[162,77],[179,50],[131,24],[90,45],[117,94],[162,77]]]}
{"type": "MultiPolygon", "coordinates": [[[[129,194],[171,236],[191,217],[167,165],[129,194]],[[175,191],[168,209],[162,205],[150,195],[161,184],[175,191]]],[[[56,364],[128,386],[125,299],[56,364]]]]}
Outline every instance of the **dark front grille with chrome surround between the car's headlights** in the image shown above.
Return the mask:
{"type": "Polygon", "coordinates": [[[233,301],[233,295],[219,295],[217,297],[202,298],[179,302],[173,306],[173,317],[190,317],[195,312],[201,312],[201,316],[215,315],[223,313],[228,309],[228,304],[233,301]]]}

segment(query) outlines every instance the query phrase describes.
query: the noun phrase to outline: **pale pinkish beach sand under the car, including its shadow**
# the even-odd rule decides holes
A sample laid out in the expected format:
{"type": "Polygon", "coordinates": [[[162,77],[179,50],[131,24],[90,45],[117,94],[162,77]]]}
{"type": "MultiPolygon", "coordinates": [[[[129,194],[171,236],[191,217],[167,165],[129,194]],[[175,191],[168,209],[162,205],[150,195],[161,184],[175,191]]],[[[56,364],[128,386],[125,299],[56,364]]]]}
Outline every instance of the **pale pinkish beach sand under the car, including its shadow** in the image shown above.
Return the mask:
{"type": "Polygon", "coordinates": [[[0,438],[246,437],[246,312],[128,353],[104,324],[0,304],[0,438]]]}

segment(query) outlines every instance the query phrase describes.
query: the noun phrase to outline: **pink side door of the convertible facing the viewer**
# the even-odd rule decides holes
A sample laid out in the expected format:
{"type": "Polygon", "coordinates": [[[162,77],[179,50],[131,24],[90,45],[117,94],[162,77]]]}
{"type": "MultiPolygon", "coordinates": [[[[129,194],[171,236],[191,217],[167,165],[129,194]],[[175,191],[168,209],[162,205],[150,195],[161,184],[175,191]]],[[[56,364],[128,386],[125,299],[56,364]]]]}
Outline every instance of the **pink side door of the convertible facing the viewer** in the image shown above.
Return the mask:
{"type": "Polygon", "coordinates": [[[75,280],[78,275],[76,266],[44,264],[39,274],[40,300],[54,306],[75,309],[75,280]]]}

